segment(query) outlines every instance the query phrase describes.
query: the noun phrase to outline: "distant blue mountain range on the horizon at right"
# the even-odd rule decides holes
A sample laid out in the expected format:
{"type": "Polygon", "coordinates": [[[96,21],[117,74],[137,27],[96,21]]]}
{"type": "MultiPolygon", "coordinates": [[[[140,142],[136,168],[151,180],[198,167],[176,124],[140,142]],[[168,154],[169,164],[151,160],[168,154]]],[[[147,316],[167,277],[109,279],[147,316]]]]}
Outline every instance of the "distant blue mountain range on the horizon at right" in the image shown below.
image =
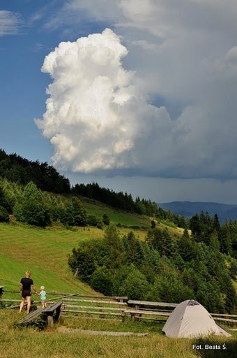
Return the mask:
{"type": "Polygon", "coordinates": [[[164,210],[171,210],[174,214],[180,214],[184,217],[192,217],[200,213],[208,212],[209,215],[218,215],[220,222],[225,220],[237,220],[237,204],[208,203],[201,201],[171,201],[171,203],[158,203],[164,210]]]}

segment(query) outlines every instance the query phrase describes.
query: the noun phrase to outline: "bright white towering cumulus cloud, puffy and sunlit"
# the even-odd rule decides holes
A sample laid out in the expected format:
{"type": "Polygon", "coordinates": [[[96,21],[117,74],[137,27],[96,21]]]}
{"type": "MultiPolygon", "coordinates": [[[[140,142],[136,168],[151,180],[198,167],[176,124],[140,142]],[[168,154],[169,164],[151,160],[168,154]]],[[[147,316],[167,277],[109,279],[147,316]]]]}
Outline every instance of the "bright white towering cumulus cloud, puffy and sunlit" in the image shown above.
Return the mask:
{"type": "Polygon", "coordinates": [[[53,82],[43,120],[36,124],[54,147],[57,167],[84,173],[142,168],[147,155],[141,157],[141,150],[158,139],[153,130],[167,134],[167,111],[148,105],[135,73],[123,69],[127,53],[119,37],[105,29],[60,43],[45,57],[42,71],[53,82]]]}

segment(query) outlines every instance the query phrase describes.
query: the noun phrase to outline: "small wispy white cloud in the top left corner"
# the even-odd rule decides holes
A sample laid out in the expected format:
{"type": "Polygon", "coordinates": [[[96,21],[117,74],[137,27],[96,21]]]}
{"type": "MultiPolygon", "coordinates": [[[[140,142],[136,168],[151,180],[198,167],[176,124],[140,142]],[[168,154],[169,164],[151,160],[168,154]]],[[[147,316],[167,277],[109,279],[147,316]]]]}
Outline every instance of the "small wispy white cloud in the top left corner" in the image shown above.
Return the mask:
{"type": "Polygon", "coordinates": [[[22,20],[18,13],[0,10],[0,36],[18,34],[21,24],[22,20]]]}

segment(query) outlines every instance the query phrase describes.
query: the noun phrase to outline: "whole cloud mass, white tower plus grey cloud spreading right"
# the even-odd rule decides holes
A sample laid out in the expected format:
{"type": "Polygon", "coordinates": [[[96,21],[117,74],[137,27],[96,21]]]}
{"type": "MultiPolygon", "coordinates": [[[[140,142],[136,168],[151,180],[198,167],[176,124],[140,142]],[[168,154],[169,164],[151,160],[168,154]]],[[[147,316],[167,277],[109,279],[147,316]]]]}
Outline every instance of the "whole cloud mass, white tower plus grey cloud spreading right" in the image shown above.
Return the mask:
{"type": "Polygon", "coordinates": [[[114,32],[61,43],[45,58],[53,82],[37,125],[54,165],[237,177],[235,1],[121,0],[107,8],[70,0],[63,10],[110,22],[114,32]]]}

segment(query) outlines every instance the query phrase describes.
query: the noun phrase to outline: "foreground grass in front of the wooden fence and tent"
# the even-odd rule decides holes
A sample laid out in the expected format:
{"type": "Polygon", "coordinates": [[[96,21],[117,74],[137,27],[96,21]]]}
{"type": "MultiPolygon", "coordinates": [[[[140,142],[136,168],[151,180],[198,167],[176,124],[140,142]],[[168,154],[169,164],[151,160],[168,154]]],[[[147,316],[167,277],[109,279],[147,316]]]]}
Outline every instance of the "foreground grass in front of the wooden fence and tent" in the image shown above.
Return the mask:
{"type": "MultiPolygon", "coordinates": [[[[20,314],[0,310],[1,358],[234,358],[234,338],[211,337],[206,340],[168,338],[162,336],[162,324],[147,322],[91,322],[90,320],[61,319],[54,328],[15,328],[20,314]],[[83,331],[82,331],[83,330],[83,331]],[[146,332],[139,336],[98,336],[93,331],[146,332]],[[195,350],[193,344],[226,344],[227,350],[195,350]]],[[[115,320],[114,320],[115,321],[115,320]]]]}

